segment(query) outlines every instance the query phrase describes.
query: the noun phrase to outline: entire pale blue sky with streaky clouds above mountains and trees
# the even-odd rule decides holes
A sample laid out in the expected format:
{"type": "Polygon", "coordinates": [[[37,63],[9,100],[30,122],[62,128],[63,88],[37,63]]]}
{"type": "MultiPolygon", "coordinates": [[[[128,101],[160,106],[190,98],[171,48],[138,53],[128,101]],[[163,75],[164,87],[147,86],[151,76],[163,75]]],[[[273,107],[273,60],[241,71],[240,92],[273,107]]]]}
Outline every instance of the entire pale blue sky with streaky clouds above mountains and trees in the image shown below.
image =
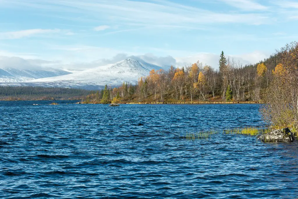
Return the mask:
{"type": "Polygon", "coordinates": [[[0,0],[0,67],[75,71],[134,55],[218,68],[222,50],[255,63],[297,36],[294,0],[0,0]]]}

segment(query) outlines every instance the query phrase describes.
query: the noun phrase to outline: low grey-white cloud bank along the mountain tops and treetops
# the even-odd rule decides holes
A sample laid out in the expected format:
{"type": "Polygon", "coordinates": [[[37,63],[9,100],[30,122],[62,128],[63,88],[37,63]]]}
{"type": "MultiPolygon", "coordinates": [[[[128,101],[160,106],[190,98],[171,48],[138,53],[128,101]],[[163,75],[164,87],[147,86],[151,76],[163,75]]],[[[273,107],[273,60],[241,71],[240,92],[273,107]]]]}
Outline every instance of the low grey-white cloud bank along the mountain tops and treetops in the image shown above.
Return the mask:
{"type": "MultiPolygon", "coordinates": [[[[231,60],[233,59],[236,63],[240,65],[245,64],[254,64],[264,58],[267,58],[269,55],[261,52],[253,52],[244,55],[226,55],[231,60]]],[[[119,53],[111,58],[98,59],[95,61],[89,62],[69,62],[65,63],[63,61],[47,61],[43,59],[26,59],[21,57],[8,57],[0,56],[0,68],[16,68],[16,69],[42,69],[46,67],[56,68],[60,70],[66,70],[70,72],[82,71],[87,69],[92,69],[100,66],[105,66],[108,64],[114,64],[116,62],[122,61],[126,58],[134,58],[136,60],[141,59],[147,63],[155,64],[157,66],[171,66],[174,67],[183,67],[200,61],[203,65],[209,65],[218,69],[218,60],[219,55],[213,53],[197,53],[188,57],[172,57],[165,56],[159,57],[153,54],[144,54],[144,55],[128,55],[125,53],[119,53]]]]}

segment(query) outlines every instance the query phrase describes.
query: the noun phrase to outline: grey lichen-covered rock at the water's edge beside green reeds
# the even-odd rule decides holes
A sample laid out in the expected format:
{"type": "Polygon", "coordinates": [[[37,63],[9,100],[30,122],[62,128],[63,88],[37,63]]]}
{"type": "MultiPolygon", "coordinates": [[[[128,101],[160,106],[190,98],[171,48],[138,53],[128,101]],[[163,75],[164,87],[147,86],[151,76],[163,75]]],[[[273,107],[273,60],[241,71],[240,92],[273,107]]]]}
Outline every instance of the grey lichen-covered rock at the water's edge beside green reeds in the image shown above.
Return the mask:
{"type": "Polygon", "coordinates": [[[263,142],[293,142],[294,135],[289,128],[275,129],[271,132],[258,135],[257,139],[263,142]]]}

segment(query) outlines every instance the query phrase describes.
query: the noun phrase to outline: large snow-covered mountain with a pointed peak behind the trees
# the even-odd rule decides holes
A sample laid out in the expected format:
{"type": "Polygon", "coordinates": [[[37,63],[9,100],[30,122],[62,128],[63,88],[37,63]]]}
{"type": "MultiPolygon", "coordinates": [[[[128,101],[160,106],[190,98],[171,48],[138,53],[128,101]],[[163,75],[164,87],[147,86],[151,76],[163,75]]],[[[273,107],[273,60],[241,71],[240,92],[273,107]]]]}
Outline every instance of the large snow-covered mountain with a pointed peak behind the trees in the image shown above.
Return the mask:
{"type": "Polygon", "coordinates": [[[162,67],[146,63],[141,59],[128,58],[119,61],[116,64],[109,64],[107,66],[74,72],[68,75],[4,85],[69,87],[91,90],[103,88],[105,84],[111,87],[116,87],[126,81],[128,83],[136,84],[139,77],[148,75],[152,69],[159,70],[162,69],[162,67]]]}

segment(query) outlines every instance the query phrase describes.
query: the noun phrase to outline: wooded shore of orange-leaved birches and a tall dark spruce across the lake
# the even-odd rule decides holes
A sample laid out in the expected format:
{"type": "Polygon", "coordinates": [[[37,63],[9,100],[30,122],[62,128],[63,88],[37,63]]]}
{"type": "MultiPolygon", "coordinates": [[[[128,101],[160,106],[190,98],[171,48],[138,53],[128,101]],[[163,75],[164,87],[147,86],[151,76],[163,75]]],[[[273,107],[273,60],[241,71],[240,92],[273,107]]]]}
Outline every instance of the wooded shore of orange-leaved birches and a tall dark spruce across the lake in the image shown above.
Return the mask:
{"type": "Polygon", "coordinates": [[[200,61],[184,67],[171,66],[169,70],[151,70],[140,77],[136,85],[122,86],[92,92],[86,103],[195,103],[196,101],[255,101],[263,100],[264,92],[273,80],[279,54],[256,64],[243,66],[239,61],[219,55],[216,70],[200,61]]]}

